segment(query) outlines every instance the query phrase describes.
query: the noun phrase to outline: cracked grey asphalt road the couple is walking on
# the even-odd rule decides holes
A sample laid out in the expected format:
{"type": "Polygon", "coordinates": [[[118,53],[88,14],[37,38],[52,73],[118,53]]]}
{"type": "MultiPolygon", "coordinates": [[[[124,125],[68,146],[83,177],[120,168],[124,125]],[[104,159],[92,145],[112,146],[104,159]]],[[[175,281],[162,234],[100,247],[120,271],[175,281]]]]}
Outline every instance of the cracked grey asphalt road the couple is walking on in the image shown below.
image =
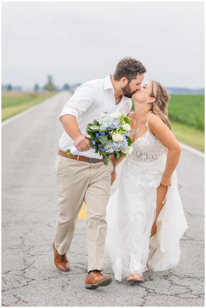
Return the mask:
{"type": "MultiPolygon", "coordinates": [[[[55,268],[53,166],[63,132],[58,115],[69,97],[58,93],[2,126],[2,306],[204,306],[204,158],[185,149],[177,175],[188,230],[175,268],[149,270],[139,284],[85,289],[85,220],[67,253],[71,271],[55,268]]],[[[103,269],[113,274],[107,255],[103,269]]]]}

